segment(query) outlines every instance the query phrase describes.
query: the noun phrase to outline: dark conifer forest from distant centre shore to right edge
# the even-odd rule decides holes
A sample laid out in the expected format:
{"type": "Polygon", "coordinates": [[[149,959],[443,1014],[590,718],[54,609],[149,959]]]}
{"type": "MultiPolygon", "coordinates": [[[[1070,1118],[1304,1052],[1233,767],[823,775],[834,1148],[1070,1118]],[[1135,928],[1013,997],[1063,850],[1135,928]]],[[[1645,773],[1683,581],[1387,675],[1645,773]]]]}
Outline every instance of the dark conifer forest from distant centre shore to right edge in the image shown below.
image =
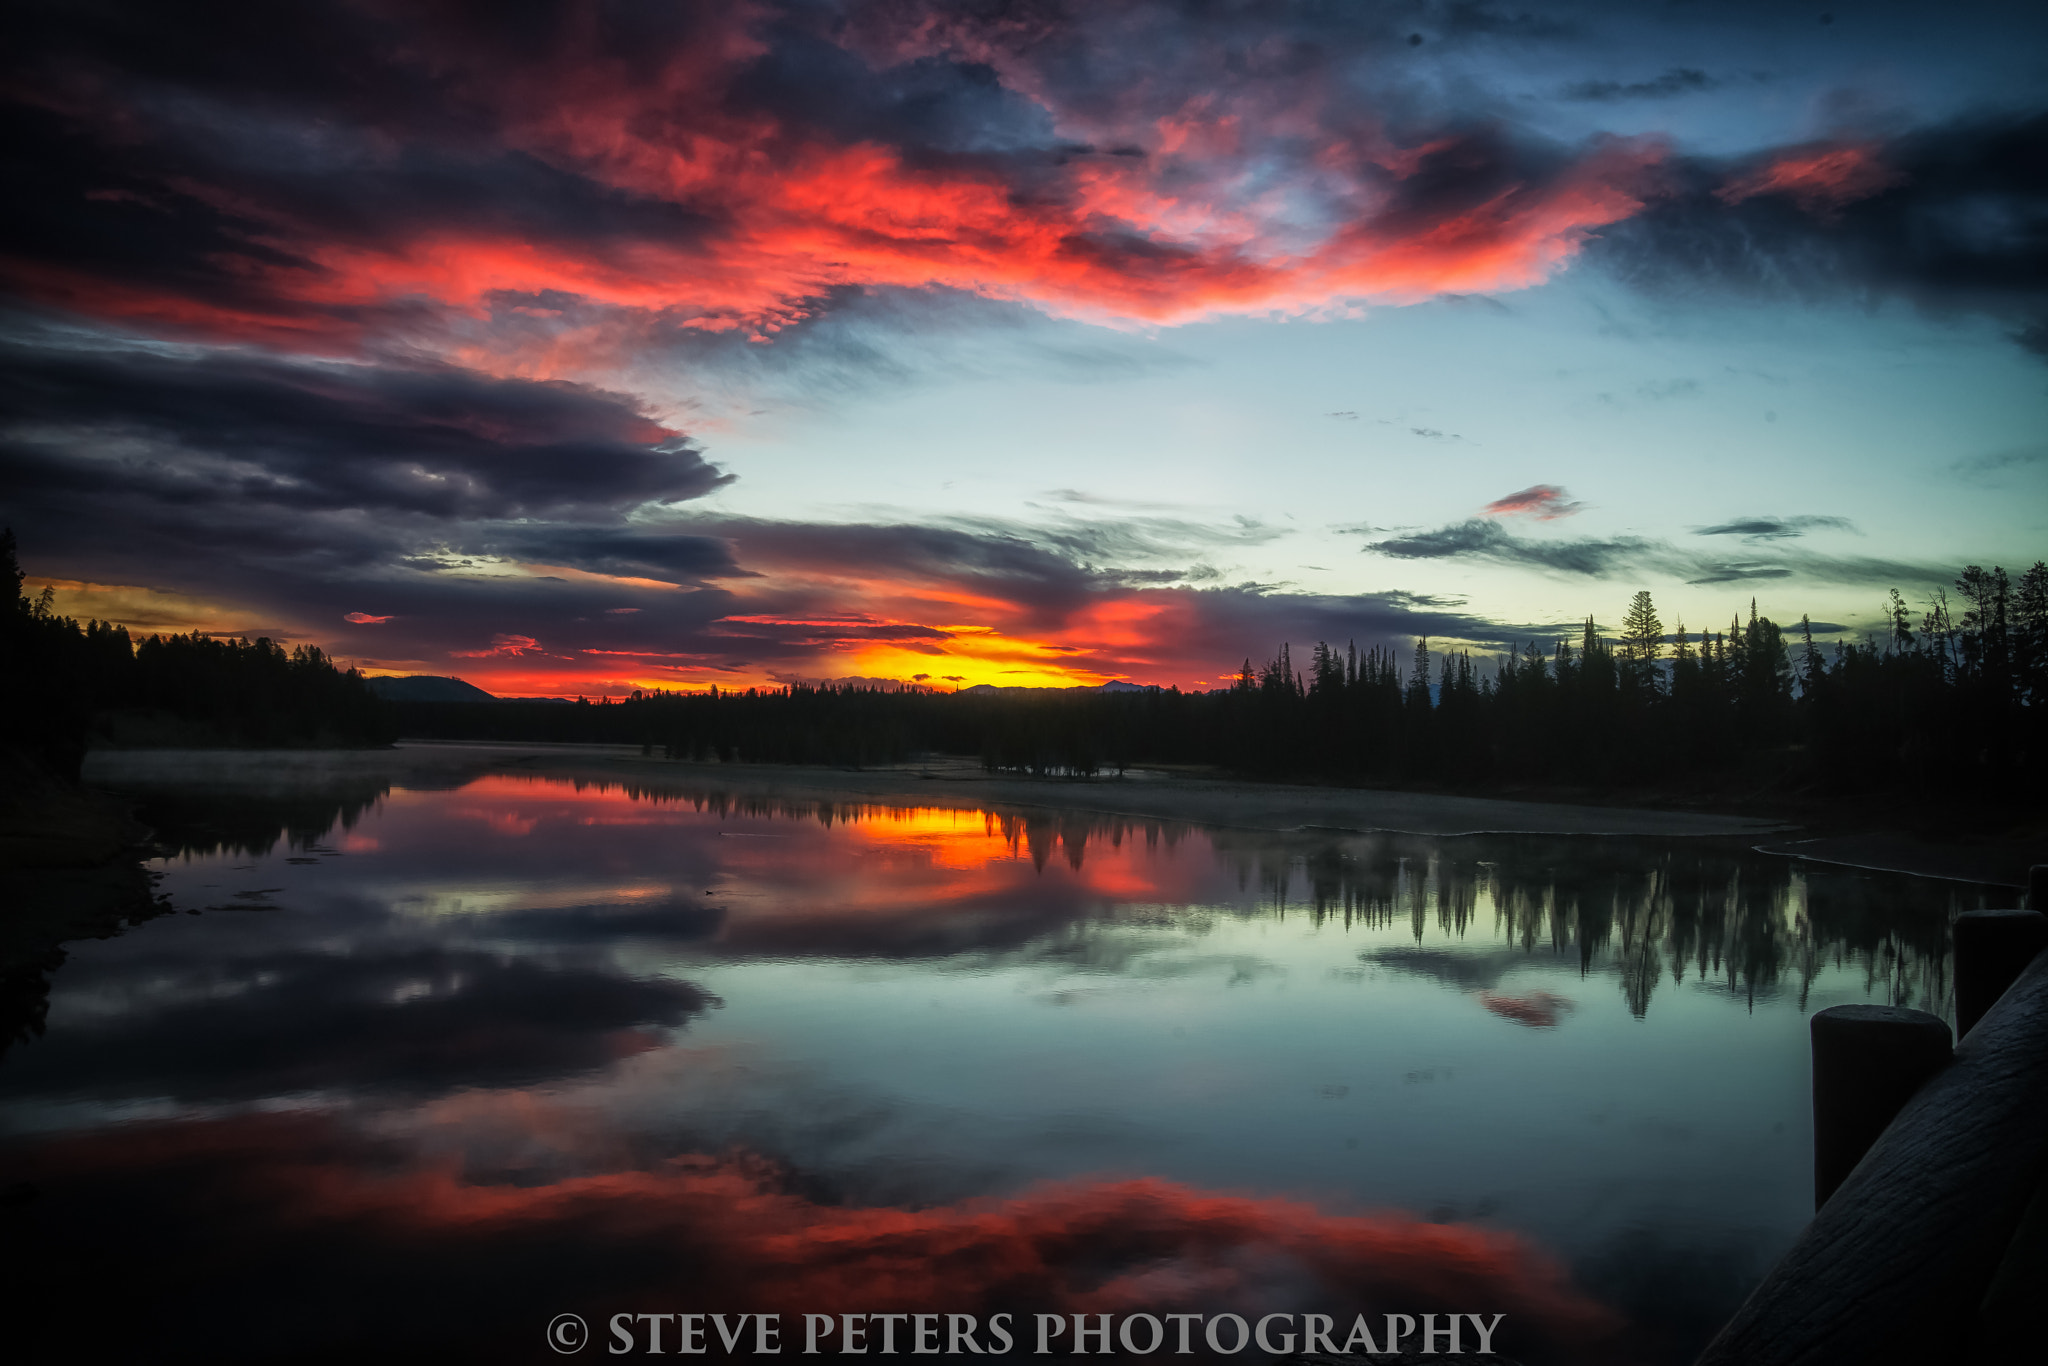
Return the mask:
{"type": "Polygon", "coordinates": [[[1282,645],[1217,692],[748,688],[610,702],[395,702],[406,735],[629,743],[680,760],[889,764],[979,754],[991,772],[1094,776],[1202,764],[1264,778],[1501,786],[1686,786],[1735,778],[1831,793],[2040,801],[2048,750],[2048,567],[2017,584],[1970,565],[1960,600],[1880,639],[1815,643],[1749,608],[1726,631],[1665,633],[1647,592],[1618,637],[1499,664],[1282,645]]]}

